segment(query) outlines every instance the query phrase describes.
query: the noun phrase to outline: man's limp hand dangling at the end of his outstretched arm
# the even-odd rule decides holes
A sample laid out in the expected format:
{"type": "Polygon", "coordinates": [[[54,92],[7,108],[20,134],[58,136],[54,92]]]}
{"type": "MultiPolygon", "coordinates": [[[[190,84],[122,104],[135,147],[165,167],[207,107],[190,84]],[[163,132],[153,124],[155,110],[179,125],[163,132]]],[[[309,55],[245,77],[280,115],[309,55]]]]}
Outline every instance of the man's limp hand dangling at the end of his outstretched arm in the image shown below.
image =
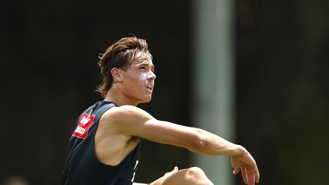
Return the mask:
{"type": "Polygon", "coordinates": [[[241,170],[242,178],[245,184],[254,185],[255,181],[259,181],[259,171],[256,161],[248,151],[239,157],[231,157],[232,167],[234,168],[233,174],[239,173],[241,170]]]}

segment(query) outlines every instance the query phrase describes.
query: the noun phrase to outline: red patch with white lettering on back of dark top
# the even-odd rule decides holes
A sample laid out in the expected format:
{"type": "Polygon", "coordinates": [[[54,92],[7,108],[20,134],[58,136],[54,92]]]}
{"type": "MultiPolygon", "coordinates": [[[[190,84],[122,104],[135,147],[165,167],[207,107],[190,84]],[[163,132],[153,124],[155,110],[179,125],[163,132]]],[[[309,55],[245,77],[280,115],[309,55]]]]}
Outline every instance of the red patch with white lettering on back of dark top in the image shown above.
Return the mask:
{"type": "Polygon", "coordinates": [[[92,125],[94,121],[94,118],[95,115],[92,114],[90,116],[87,113],[84,113],[81,116],[79,123],[72,135],[85,139],[87,137],[89,127],[92,125]]]}

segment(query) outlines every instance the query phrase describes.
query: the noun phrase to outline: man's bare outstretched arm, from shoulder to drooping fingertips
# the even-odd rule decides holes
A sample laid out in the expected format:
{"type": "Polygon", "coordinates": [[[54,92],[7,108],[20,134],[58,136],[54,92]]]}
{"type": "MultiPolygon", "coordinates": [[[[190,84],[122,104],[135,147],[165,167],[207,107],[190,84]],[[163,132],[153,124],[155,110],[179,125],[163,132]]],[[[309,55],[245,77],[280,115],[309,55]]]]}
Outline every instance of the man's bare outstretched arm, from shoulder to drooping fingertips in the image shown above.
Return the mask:
{"type": "Polygon", "coordinates": [[[138,136],[157,143],[184,147],[199,154],[231,156],[234,174],[241,169],[244,182],[255,179],[258,182],[259,172],[250,153],[216,134],[199,128],[157,120],[134,106],[112,108],[103,117],[104,121],[110,125],[112,133],[138,136]]]}

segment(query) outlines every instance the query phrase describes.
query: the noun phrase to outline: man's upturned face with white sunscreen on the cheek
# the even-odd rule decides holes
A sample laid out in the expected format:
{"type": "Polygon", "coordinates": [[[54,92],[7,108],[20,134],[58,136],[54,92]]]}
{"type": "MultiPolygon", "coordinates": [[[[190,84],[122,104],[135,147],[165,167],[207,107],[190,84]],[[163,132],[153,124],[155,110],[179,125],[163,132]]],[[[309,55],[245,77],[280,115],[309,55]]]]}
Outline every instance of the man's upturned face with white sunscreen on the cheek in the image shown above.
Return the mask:
{"type": "MultiPolygon", "coordinates": [[[[145,55],[145,53],[139,52],[136,55],[145,55]]],[[[127,98],[137,104],[151,101],[156,76],[150,57],[133,61],[131,66],[122,72],[122,77],[122,93],[127,98]]]]}

